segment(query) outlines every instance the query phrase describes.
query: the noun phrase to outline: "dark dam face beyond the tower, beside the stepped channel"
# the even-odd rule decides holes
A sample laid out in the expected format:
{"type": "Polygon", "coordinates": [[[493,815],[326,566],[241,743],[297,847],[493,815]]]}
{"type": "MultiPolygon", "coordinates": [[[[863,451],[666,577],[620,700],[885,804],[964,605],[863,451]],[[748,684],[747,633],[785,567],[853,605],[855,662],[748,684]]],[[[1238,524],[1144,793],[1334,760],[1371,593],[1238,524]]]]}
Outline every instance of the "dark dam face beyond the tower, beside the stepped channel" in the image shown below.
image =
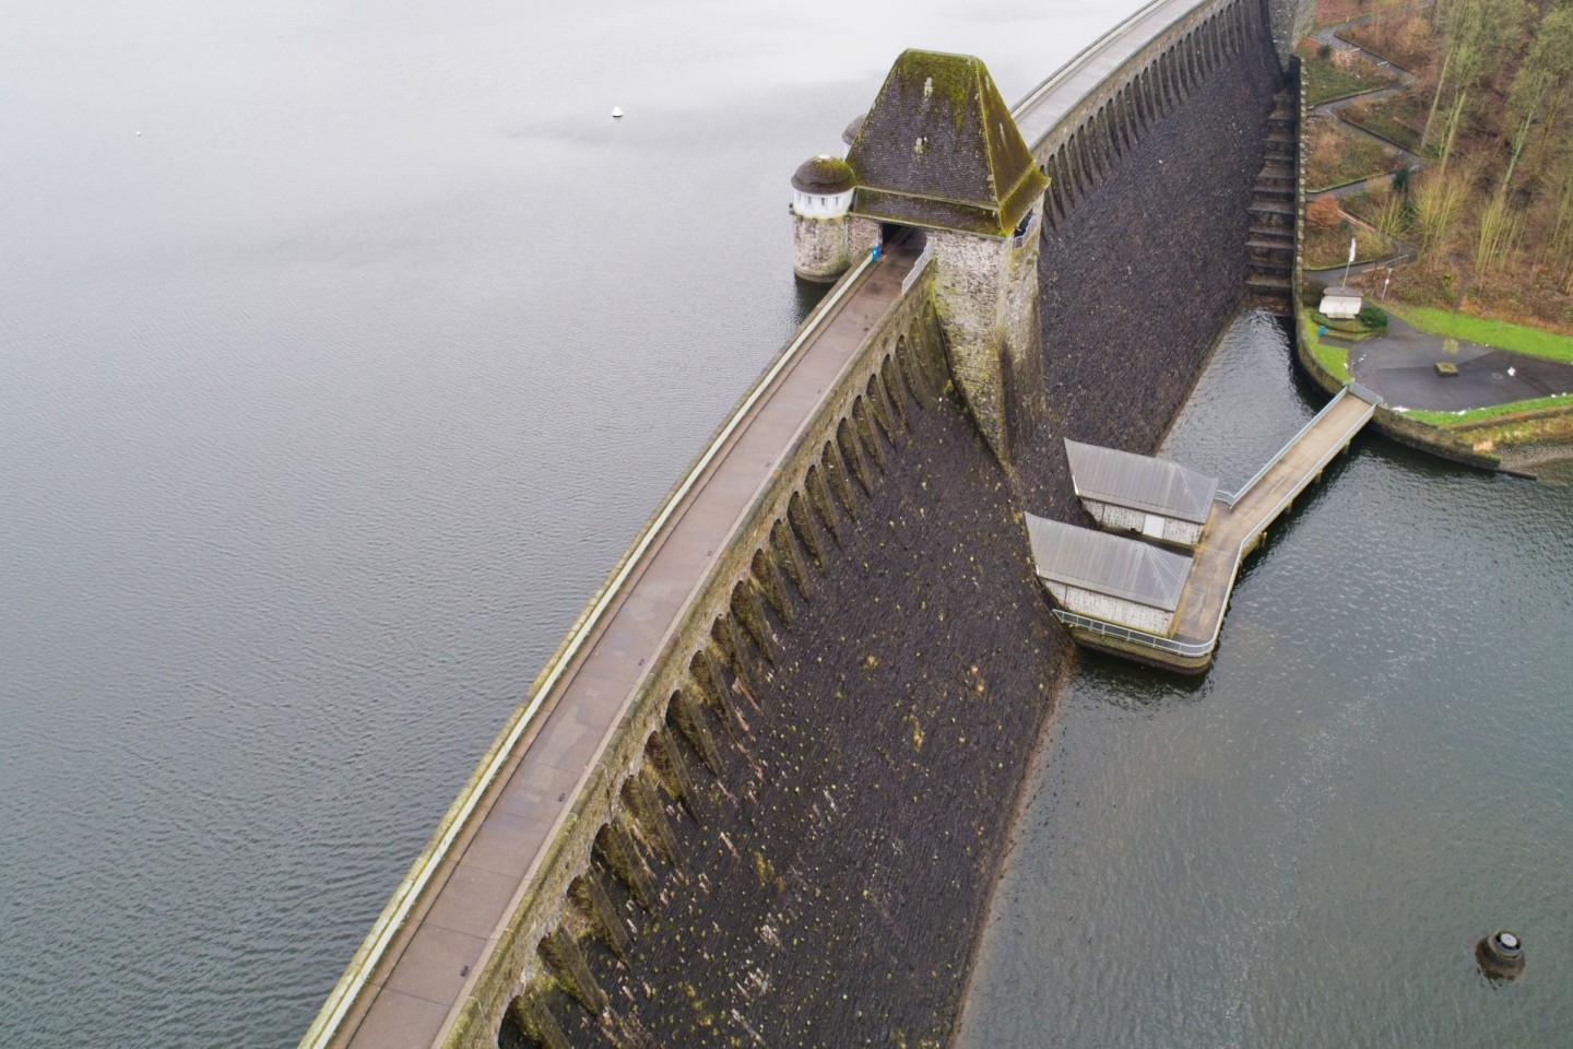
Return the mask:
{"type": "Polygon", "coordinates": [[[1265,42],[1243,53],[1044,223],[1046,407],[1016,470],[1027,510],[1090,524],[1062,439],[1150,453],[1184,404],[1251,272],[1249,204],[1282,85],[1265,42]]]}

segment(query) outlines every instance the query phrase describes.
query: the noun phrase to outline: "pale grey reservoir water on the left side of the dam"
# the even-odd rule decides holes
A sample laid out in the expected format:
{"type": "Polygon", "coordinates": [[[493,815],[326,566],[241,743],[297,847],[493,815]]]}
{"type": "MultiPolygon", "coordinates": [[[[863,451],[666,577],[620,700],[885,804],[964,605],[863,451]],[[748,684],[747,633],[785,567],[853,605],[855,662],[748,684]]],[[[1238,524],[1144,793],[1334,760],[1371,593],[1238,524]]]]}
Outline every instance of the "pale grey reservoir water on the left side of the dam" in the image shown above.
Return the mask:
{"type": "Polygon", "coordinates": [[[291,1044],[798,324],[793,168],[1136,6],[0,6],[0,1046],[291,1044]]]}

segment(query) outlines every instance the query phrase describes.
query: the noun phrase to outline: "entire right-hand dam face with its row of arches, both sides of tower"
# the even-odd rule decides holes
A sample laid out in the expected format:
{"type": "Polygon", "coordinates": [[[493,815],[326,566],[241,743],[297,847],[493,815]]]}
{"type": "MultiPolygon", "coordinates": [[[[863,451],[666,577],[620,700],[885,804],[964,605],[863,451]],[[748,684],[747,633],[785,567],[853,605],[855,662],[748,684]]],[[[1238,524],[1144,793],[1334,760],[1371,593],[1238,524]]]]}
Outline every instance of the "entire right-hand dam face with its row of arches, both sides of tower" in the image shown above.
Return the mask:
{"type": "Polygon", "coordinates": [[[488,1043],[944,1033],[1068,648],[1019,514],[1078,513],[1060,437],[1148,450],[1238,302],[1279,86],[1254,27],[1210,58],[1184,24],[1032,157],[1052,219],[1027,300],[999,299],[1040,335],[1002,370],[1026,425],[1010,467],[947,371],[933,269],[829,387],[777,464],[788,497],[720,552],[672,673],[596,769],[488,1043]]]}

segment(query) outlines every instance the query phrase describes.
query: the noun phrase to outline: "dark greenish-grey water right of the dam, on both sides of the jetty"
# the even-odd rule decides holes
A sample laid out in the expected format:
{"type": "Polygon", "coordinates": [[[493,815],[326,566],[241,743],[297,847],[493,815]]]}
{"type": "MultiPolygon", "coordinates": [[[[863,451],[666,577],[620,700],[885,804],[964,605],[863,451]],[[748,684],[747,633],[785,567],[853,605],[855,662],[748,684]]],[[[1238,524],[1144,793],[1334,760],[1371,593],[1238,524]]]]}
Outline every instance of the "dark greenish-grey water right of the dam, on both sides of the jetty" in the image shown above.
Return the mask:
{"type": "MultiPolygon", "coordinates": [[[[1247,315],[1164,453],[1233,488],[1323,399],[1247,315]]],[[[1084,659],[960,1046],[1573,1044],[1570,513],[1362,437],[1247,563],[1206,678],[1084,659]],[[1497,926],[1512,985],[1471,956],[1497,926]]]]}

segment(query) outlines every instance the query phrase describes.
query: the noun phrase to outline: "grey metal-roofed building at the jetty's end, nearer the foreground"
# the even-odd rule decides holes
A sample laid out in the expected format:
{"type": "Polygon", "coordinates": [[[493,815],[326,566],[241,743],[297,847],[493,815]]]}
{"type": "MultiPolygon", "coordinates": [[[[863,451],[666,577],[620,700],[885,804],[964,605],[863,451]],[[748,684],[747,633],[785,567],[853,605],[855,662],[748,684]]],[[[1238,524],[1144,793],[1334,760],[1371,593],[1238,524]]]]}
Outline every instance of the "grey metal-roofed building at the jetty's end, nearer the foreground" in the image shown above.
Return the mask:
{"type": "Polygon", "coordinates": [[[1066,612],[1148,634],[1173,629],[1189,557],[1032,514],[1027,538],[1038,579],[1066,612]]]}

